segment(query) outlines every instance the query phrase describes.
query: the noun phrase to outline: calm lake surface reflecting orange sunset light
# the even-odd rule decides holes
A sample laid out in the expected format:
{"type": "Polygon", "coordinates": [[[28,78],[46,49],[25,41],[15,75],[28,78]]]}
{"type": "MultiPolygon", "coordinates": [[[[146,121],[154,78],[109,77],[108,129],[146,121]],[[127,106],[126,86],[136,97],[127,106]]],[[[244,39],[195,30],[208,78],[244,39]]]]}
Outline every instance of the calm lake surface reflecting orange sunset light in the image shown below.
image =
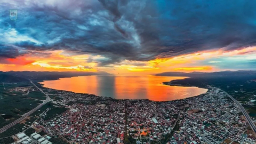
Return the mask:
{"type": "Polygon", "coordinates": [[[79,76],[44,81],[45,87],[56,90],[90,93],[115,99],[149,99],[169,101],[194,97],[207,92],[198,87],[163,85],[173,79],[186,77],[162,77],[152,75],[79,76]]]}

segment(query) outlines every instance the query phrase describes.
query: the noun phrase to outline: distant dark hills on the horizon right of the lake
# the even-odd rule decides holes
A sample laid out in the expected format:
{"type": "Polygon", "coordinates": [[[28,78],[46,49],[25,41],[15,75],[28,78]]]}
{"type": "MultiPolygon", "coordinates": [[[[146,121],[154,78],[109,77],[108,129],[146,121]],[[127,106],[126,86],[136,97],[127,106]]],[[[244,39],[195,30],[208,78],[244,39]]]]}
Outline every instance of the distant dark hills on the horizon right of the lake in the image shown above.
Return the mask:
{"type": "Polygon", "coordinates": [[[156,74],[156,76],[187,76],[187,77],[239,77],[239,76],[255,76],[256,70],[238,70],[238,71],[218,71],[212,73],[203,73],[203,72],[192,72],[192,73],[183,73],[183,72],[165,72],[156,74]]]}

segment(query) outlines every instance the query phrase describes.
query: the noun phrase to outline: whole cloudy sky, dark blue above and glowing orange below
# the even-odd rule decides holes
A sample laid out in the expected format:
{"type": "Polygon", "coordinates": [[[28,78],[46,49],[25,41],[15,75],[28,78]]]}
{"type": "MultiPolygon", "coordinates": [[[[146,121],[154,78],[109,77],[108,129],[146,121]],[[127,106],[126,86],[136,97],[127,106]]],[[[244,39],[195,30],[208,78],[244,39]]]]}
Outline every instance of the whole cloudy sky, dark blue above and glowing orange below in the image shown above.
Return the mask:
{"type": "Polygon", "coordinates": [[[255,7],[244,0],[2,0],[0,70],[256,70],[255,7]]]}

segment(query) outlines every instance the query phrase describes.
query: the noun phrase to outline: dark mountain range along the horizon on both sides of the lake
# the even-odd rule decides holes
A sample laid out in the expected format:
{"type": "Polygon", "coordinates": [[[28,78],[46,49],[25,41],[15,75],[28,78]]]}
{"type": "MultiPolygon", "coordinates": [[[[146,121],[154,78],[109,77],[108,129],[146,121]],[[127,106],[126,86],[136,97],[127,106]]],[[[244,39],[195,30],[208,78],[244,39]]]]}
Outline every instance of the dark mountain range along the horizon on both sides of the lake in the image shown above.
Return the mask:
{"type": "MultiPolygon", "coordinates": [[[[74,76],[92,76],[92,75],[112,75],[105,71],[84,72],[84,71],[0,71],[0,82],[14,83],[33,81],[55,80],[64,77],[74,76]]],[[[218,71],[211,73],[204,72],[165,72],[155,74],[155,76],[184,76],[184,77],[253,77],[256,78],[256,70],[238,70],[238,71],[218,71]]]]}

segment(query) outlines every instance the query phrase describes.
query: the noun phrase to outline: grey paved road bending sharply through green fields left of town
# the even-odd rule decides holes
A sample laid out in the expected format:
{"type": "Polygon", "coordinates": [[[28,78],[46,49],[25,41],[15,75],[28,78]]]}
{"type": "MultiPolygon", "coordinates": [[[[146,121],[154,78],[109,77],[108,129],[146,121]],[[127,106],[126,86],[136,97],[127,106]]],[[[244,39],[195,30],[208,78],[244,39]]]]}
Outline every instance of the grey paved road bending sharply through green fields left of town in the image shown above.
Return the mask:
{"type": "Polygon", "coordinates": [[[45,105],[45,103],[50,101],[50,97],[48,96],[48,94],[46,94],[43,90],[39,89],[32,81],[30,81],[30,83],[32,83],[38,90],[40,90],[42,93],[44,93],[46,95],[46,100],[44,100],[43,103],[41,103],[39,106],[37,106],[36,108],[30,110],[28,113],[22,115],[20,118],[18,118],[16,121],[10,123],[9,125],[4,126],[2,129],[0,129],[0,133],[10,129],[10,127],[14,126],[15,124],[23,121],[25,118],[27,118],[27,116],[31,115],[32,113],[34,113],[36,110],[38,110],[39,108],[41,108],[43,105],[45,105]]]}

